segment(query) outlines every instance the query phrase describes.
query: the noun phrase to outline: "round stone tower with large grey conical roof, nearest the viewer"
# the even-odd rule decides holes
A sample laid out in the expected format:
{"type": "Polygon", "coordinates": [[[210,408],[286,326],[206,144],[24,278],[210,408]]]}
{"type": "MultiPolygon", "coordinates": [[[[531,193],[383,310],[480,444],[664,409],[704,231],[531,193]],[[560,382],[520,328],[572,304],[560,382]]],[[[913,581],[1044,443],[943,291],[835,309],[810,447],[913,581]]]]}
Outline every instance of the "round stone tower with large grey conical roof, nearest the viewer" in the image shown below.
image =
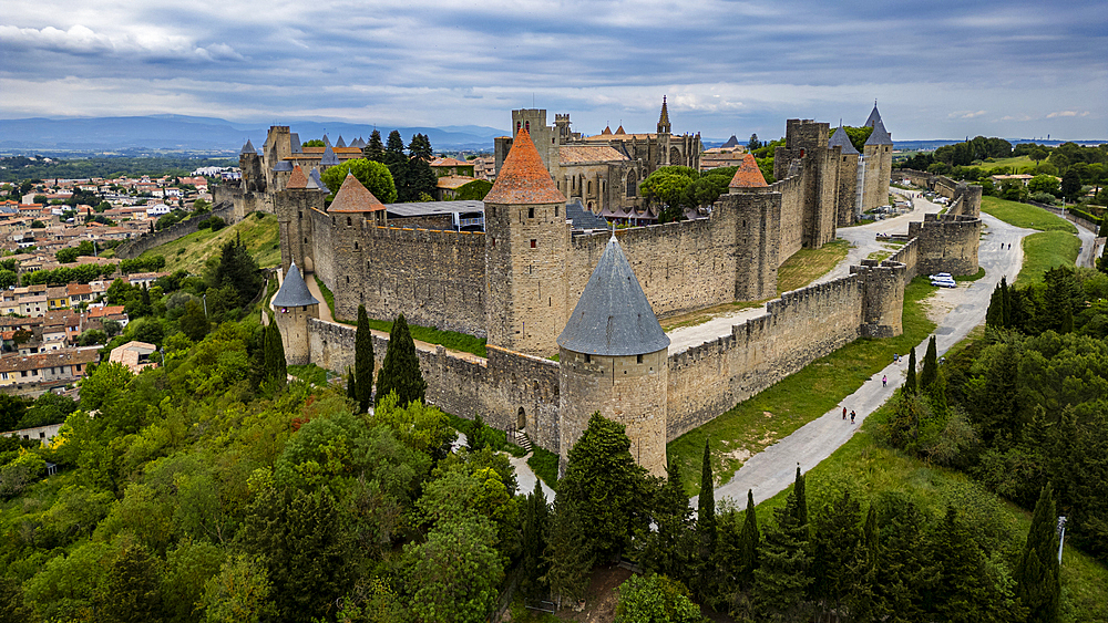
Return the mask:
{"type": "Polygon", "coordinates": [[[557,343],[561,471],[588,418],[599,412],[627,427],[635,460],[664,476],[669,338],[615,236],[557,343]]]}

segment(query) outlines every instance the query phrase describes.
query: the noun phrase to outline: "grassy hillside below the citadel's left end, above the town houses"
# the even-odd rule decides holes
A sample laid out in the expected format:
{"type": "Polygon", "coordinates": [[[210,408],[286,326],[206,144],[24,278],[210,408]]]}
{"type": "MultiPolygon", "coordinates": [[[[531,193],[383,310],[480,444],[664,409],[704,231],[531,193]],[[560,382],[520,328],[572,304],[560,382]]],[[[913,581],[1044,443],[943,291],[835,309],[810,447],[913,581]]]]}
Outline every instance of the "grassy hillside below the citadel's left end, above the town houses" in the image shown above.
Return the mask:
{"type": "Polygon", "coordinates": [[[163,270],[174,272],[183,269],[201,274],[204,272],[207,259],[223,252],[223,246],[234,240],[236,236],[242,237],[243,243],[259,267],[269,268],[280,263],[280,235],[277,229],[277,217],[274,215],[264,215],[264,218],[250,215],[215,232],[211,229],[201,229],[155,247],[143,253],[143,257],[165,256],[163,270]]]}

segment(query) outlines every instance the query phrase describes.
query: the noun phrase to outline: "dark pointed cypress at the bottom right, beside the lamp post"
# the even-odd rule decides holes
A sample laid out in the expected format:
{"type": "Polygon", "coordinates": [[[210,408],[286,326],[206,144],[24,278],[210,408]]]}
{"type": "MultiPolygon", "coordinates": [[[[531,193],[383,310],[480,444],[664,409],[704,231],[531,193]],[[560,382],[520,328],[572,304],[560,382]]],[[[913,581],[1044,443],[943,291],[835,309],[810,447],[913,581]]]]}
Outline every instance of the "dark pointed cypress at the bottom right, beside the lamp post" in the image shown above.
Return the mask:
{"type": "Polygon", "coordinates": [[[1032,529],[1027,533],[1024,554],[1016,568],[1016,595],[1029,610],[1027,621],[1053,623],[1058,620],[1058,599],[1061,585],[1058,579],[1058,536],[1054,494],[1047,484],[1035,502],[1032,529]]]}

